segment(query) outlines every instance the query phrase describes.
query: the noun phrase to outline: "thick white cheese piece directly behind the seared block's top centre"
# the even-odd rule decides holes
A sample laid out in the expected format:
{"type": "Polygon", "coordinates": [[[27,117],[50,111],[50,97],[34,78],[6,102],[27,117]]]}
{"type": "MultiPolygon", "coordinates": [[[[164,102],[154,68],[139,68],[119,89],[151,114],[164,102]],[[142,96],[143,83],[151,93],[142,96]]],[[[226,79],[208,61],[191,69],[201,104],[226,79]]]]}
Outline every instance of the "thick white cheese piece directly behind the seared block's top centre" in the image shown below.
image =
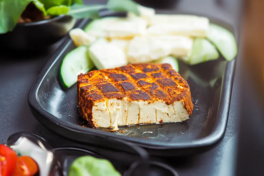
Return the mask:
{"type": "Polygon", "coordinates": [[[144,63],[173,55],[186,57],[191,54],[192,39],[186,36],[135,37],[128,46],[129,63],[144,63]]]}

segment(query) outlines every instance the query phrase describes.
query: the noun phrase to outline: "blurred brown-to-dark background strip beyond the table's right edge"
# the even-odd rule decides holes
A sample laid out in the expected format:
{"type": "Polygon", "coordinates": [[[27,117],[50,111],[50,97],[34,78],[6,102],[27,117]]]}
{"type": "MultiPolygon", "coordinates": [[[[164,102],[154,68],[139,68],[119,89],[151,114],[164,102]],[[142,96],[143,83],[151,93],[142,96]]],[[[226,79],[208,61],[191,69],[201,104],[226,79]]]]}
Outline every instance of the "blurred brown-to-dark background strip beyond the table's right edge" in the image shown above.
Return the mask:
{"type": "Polygon", "coordinates": [[[237,175],[263,175],[264,1],[244,1],[241,23],[237,175]]]}

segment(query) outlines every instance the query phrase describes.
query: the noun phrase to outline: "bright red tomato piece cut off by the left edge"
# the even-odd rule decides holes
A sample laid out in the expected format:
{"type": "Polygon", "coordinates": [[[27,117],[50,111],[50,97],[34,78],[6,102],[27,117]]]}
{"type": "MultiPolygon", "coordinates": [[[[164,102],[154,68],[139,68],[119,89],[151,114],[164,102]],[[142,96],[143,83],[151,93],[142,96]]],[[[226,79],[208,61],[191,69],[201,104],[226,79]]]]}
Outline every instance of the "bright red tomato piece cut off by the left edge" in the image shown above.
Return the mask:
{"type": "Polygon", "coordinates": [[[0,144],[0,176],[11,176],[16,167],[17,154],[11,148],[0,144]]]}

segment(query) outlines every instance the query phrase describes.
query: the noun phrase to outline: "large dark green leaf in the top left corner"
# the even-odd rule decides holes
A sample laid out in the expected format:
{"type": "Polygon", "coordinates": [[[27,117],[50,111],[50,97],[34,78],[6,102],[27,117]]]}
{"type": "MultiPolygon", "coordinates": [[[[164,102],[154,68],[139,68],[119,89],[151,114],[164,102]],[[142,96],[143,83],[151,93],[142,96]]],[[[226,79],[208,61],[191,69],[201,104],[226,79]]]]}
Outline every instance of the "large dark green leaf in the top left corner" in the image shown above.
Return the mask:
{"type": "Polygon", "coordinates": [[[12,31],[29,0],[0,0],[0,34],[12,31]]]}

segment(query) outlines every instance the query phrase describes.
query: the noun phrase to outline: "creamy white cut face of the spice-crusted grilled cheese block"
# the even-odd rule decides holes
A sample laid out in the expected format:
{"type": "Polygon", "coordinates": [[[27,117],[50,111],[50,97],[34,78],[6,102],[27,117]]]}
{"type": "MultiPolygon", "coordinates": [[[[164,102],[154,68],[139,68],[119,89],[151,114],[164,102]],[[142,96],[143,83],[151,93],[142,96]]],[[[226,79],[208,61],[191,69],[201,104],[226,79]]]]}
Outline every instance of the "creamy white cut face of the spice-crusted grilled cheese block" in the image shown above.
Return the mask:
{"type": "Polygon", "coordinates": [[[182,101],[167,105],[164,102],[132,101],[108,99],[95,104],[92,108],[93,122],[96,127],[111,127],[145,123],[182,122],[189,114],[182,101]]]}

